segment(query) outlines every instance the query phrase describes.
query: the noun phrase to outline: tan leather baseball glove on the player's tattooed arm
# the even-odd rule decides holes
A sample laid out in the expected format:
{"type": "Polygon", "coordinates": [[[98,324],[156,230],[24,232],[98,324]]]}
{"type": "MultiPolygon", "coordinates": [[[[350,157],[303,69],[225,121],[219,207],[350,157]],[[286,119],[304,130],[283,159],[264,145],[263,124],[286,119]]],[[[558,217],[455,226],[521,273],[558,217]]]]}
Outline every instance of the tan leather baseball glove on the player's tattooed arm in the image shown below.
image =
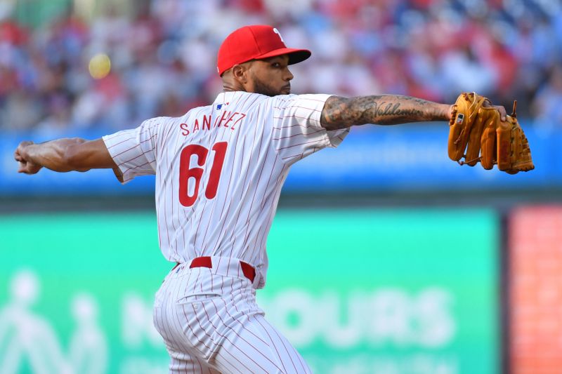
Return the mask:
{"type": "Polygon", "coordinates": [[[516,105],[517,101],[507,121],[501,121],[488,98],[477,93],[460,94],[449,123],[450,159],[469,166],[480,161],[486,170],[497,164],[500,171],[510,174],[534,169],[529,142],[517,121],[516,105]]]}

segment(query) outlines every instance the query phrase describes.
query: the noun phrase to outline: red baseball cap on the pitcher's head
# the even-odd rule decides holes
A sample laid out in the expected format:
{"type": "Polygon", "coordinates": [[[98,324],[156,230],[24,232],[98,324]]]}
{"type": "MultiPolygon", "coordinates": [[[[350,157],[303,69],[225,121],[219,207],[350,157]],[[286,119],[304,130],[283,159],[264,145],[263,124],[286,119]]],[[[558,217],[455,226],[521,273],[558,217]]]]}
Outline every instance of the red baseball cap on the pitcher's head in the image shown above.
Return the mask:
{"type": "Polygon", "coordinates": [[[286,54],[289,55],[289,65],[292,65],[306,60],[312,53],[306,49],[287,48],[275,27],[244,26],[228,35],[218,48],[216,69],[222,76],[223,72],[242,62],[286,54]]]}

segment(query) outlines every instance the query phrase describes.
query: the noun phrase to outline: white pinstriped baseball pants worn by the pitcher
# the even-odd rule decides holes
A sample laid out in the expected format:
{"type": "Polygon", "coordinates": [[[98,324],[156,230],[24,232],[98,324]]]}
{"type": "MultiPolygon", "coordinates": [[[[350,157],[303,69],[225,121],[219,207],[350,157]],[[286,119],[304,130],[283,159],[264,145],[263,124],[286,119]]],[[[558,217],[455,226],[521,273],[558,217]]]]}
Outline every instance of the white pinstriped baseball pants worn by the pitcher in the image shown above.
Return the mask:
{"type": "Polygon", "coordinates": [[[180,265],[156,294],[154,323],[171,358],[169,373],[311,373],[266,321],[240,261],[218,259],[219,270],[180,265]]]}

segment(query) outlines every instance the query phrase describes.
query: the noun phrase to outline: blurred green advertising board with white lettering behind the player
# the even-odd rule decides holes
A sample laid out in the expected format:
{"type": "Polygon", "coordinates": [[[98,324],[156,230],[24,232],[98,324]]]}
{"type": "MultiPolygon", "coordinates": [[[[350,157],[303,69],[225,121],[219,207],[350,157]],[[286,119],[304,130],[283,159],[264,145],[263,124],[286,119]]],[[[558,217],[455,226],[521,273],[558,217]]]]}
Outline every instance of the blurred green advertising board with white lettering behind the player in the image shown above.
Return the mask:
{"type": "MultiPolygon", "coordinates": [[[[497,374],[497,225],[482,210],[281,210],[258,302],[315,373],[497,374]]],[[[0,235],[2,373],[166,373],[153,213],[4,216],[0,235]]]]}

